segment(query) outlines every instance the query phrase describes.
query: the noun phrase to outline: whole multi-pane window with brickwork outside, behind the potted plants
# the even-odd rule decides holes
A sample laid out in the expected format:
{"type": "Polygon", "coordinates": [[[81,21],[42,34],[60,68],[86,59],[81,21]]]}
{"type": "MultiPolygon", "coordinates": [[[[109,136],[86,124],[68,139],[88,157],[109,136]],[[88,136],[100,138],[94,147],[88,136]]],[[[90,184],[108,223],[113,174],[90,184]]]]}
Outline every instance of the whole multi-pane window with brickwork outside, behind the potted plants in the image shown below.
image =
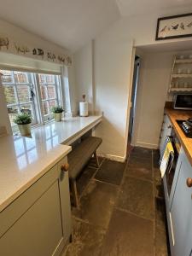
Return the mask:
{"type": "Polygon", "coordinates": [[[53,74],[26,73],[1,70],[9,119],[15,133],[17,113],[32,115],[32,125],[53,118],[51,108],[62,105],[61,76],[53,74]]]}

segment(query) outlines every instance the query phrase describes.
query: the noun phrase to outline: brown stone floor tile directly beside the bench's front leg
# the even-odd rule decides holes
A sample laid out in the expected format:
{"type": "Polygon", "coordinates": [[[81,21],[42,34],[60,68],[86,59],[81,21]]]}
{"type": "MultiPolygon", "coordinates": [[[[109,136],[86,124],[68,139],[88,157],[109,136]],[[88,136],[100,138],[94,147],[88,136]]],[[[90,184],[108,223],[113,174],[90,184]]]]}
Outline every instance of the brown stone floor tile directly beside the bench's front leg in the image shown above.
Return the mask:
{"type": "Polygon", "coordinates": [[[73,215],[106,229],[117,195],[116,186],[92,181],[81,197],[80,208],[73,208],[73,215]]]}

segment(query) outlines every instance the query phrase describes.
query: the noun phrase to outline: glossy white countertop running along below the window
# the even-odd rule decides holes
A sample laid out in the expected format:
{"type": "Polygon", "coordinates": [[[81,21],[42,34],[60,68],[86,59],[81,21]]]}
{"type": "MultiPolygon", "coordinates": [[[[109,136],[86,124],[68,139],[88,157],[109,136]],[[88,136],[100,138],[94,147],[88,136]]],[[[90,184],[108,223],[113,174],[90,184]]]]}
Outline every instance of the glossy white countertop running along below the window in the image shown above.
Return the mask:
{"type": "Polygon", "coordinates": [[[67,155],[67,145],[101,120],[102,116],[67,118],[33,128],[32,137],[0,137],[0,212],[67,155]]]}

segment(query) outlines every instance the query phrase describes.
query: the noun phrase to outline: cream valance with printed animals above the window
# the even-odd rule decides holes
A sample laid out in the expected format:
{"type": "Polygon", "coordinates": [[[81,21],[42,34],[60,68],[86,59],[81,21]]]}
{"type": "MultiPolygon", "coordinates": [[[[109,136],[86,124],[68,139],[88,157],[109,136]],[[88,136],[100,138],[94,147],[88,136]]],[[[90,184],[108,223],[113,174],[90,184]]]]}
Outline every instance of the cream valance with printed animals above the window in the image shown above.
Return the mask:
{"type": "Polygon", "coordinates": [[[72,66],[72,58],[69,55],[58,55],[49,49],[41,47],[20,44],[14,40],[0,36],[0,51],[23,55],[36,60],[51,61],[67,67],[72,66]]]}

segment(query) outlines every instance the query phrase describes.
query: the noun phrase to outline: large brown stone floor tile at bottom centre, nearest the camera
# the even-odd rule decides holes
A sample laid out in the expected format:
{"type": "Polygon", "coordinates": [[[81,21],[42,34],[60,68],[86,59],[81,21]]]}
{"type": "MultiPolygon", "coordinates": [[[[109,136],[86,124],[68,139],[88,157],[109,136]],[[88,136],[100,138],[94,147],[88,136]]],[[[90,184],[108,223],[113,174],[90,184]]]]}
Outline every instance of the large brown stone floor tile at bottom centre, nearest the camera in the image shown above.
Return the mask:
{"type": "Polygon", "coordinates": [[[114,210],[102,247],[102,256],[154,255],[153,221],[114,210]]]}

